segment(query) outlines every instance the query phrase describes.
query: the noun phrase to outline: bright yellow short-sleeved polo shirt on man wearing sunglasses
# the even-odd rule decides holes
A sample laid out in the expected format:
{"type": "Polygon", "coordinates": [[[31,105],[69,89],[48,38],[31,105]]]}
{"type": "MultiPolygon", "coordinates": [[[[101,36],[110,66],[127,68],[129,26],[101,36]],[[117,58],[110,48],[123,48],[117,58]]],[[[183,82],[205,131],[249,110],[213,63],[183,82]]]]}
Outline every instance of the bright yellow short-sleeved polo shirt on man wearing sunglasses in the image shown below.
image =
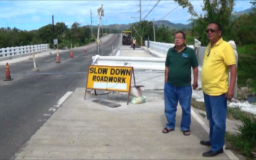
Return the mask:
{"type": "Polygon", "coordinates": [[[229,65],[236,65],[233,47],[222,38],[212,47],[209,43],[201,71],[202,90],[205,94],[221,95],[228,91],[229,65]]]}

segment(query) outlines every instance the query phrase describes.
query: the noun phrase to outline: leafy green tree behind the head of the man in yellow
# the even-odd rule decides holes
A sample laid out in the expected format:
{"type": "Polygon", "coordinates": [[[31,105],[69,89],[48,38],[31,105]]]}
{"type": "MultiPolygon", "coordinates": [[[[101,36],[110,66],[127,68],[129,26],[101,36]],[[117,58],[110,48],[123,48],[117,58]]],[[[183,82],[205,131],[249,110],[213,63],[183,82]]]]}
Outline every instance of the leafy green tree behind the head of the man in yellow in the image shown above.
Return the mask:
{"type": "Polygon", "coordinates": [[[234,0],[204,0],[204,6],[202,10],[205,14],[197,15],[194,11],[194,7],[188,0],[175,0],[183,8],[188,7],[188,12],[191,14],[189,22],[192,24],[192,36],[195,36],[202,43],[202,46],[206,46],[209,41],[205,34],[207,25],[210,22],[218,22],[222,26],[223,39],[231,38],[231,13],[234,10],[234,0]]]}

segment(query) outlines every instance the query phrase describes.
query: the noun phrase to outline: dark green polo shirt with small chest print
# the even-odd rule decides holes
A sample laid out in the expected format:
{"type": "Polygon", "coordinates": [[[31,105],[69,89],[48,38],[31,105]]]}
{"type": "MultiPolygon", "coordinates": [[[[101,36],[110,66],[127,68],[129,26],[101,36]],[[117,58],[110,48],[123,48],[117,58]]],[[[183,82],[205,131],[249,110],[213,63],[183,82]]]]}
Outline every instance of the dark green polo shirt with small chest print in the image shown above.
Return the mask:
{"type": "Polygon", "coordinates": [[[197,67],[198,62],[194,49],[185,46],[180,53],[172,47],[167,52],[165,66],[168,66],[168,83],[176,86],[191,85],[191,67],[197,67]]]}

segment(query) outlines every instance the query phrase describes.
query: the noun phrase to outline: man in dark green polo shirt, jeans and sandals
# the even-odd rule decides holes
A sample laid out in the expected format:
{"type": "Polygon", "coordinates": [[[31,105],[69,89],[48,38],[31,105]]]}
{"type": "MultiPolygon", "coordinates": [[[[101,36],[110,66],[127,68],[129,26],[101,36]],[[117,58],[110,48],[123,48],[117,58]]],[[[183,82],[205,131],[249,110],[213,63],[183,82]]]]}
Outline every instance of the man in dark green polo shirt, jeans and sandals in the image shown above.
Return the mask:
{"type": "Polygon", "coordinates": [[[195,90],[198,78],[198,62],[193,49],[186,46],[186,34],[175,33],[175,47],[168,50],[165,61],[165,116],[168,123],[162,130],[168,133],[175,130],[175,116],[178,102],[182,108],[181,130],[190,135],[192,87],[195,90]],[[191,67],[194,81],[191,87],[191,67]]]}

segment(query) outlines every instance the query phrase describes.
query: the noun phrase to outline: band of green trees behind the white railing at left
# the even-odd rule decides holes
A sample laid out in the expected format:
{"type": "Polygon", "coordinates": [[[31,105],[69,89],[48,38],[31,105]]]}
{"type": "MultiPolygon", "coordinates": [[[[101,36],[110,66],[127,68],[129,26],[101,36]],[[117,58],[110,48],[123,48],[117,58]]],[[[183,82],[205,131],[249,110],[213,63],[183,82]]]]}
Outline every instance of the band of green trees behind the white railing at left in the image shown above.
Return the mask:
{"type": "MultiPolygon", "coordinates": [[[[104,34],[105,34],[104,28],[104,34]]],[[[102,30],[100,31],[102,34],[102,30]]],[[[108,33],[120,33],[117,30],[108,29],[108,33]]],[[[101,36],[100,36],[101,37],[101,36]]],[[[93,27],[93,39],[91,39],[91,27],[82,26],[80,23],[73,23],[68,28],[63,22],[57,22],[43,26],[35,31],[19,30],[17,28],[0,28],[0,48],[28,46],[34,44],[50,44],[53,47],[53,39],[58,39],[58,47],[83,46],[97,38],[97,28],[93,27]]]]}

